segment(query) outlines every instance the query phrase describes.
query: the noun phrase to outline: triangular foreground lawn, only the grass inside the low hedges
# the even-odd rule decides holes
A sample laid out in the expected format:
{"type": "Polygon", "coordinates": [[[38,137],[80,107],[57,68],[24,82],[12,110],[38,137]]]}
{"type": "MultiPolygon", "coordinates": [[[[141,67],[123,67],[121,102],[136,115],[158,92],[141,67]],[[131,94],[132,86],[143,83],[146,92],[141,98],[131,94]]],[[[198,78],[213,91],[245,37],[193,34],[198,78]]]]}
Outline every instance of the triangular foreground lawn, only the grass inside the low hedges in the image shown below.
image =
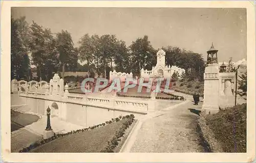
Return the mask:
{"type": "Polygon", "coordinates": [[[30,152],[100,152],[108,145],[116,131],[125,120],[57,138],[46,144],[40,145],[30,152]]]}

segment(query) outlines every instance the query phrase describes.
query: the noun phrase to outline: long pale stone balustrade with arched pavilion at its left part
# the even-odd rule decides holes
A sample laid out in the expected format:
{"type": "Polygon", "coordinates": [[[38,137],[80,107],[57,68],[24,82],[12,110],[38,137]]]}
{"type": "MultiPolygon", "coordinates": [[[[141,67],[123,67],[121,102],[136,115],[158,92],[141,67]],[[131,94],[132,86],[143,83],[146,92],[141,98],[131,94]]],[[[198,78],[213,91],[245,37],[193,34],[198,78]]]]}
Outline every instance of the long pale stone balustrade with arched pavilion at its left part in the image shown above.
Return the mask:
{"type": "MultiPolygon", "coordinates": [[[[128,74],[126,74],[128,75],[128,74]]],[[[129,75],[132,75],[129,74],[129,75]]],[[[114,97],[88,97],[87,95],[73,95],[68,91],[68,85],[63,87],[63,80],[59,78],[57,74],[51,79],[50,83],[45,81],[36,82],[31,81],[26,83],[22,80],[12,82],[19,84],[20,86],[25,85],[28,89],[19,90],[19,96],[25,98],[36,98],[46,101],[55,101],[61,103],[72,103],[77,105],[89,105],[101,108],[107,108],[110,110],[119,111],[132,111],[145,114],[148,112],[148,103],[126,99],[116,99],[114,97]],[[65,90],[65,92],[63,91],[65,90]]],[[[15,90],[15,89],[13,89],[15,90]]]]}

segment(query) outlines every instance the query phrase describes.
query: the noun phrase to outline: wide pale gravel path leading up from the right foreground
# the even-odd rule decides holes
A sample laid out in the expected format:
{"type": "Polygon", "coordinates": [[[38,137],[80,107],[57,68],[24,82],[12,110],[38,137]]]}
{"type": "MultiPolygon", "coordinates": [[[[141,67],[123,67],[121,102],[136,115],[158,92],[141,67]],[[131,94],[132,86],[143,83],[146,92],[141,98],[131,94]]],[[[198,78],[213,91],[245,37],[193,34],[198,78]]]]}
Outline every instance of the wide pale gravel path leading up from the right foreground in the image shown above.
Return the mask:
{"type": "Polygon", "coordinates": [[[191,99],[139,119],[121,152],[202,152],[196,131],[202,102],[191,99]]]}

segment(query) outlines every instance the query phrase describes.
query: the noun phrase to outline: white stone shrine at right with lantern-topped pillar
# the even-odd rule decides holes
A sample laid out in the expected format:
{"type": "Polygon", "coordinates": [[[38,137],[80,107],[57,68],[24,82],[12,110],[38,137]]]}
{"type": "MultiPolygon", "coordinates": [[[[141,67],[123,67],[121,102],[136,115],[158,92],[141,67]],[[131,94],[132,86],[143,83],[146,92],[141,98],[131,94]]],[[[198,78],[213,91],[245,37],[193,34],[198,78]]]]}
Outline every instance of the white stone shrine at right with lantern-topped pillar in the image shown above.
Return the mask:
{"type": "MultiPolygon", "coordinates": [[[[204,103],[202,106],[207,114],[219,112],[219,107],[234,106],[236,101],[236,72],[228,71],[224,62],[221,65],[218,64],[217,52],[218,50],[213,44],[207,51],[207,65],[204,73],[204,103]]],[[[245,72],[246,68],[244,67],[246,67],[245,61],[238,66],[237,73],[245,72]]]]}

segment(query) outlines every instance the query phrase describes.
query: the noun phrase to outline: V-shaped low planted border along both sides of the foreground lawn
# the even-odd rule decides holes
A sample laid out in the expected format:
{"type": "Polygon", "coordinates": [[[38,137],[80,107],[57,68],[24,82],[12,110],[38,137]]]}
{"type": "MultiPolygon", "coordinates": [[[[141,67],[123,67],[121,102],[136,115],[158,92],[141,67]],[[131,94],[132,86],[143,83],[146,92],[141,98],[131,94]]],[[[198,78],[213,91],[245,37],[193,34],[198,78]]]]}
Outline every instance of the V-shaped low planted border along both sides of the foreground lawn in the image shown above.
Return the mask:
{"type": "MultiPolygon", "coordinates": [[[[91,127],[88,127],[88,128],[83,128],[83,129],[78,129],[78,130],[73,130],[73,131],[70,131],[68,133],[61,133],[61,134],[55,134],[54,133],[54,136],[49,138],[49,139],[44,139],[44,140],[41,140],[40,142],[35,142],[33,144],[31,144],[30,146],[26,147],[26,148],[23,148],[22,150],[20,150],[19,152],[30,152],[32,149],[36,148],[36,147],[39,147],[41,145],[44,145],[46,143],[49,143],[53,140],[56,140],[58,138],[61,138],[61,137],[67,137],[68,135],[71,135],[71,134],[76,134],[76,133],[79,133],[79,132],[85,132],[85,131],[90,131],[90,130],[93,130],[93,129],[96,129],[96,128],[99,128],[99,127],[103,127],[105,125],[108,125],[108,124],[111,124],[113,122],[118,122],[120,123],[119,121],[120,120],[123,120],[123,123],[122,123],[122,127],[120,127],[117,131],[116,131],[116,134],[114,135],[113,139],[115,138],[116,139],[119,139],[120,137],[122,137],[122,133],[124,133],[125,129],[127,127],[129,127],[132,122],[134,121],[134,115],[131,114],[131,115],[126,115],[126,116],[119,116],[118,118],[112,118],[112,120],[110,121],[106,121],[104,123],[101,123],[101,124],[98,124],[98,125],[95,125],[95,126],[91,126],[91,127]]],[[[113,140],[112,139],[112,140],[113,140]]],[[[118,143],[117,143],[118,144],[118,143]]],[[[117,146],[116,144],[116,141],[110,141],[108,142],[108,145],[104,148],[104,151],[105,152],[111,152],[113,151],[113,149],[117,146]]],[[[79,151],[78,151],[79,152],[79,151]]]]}

